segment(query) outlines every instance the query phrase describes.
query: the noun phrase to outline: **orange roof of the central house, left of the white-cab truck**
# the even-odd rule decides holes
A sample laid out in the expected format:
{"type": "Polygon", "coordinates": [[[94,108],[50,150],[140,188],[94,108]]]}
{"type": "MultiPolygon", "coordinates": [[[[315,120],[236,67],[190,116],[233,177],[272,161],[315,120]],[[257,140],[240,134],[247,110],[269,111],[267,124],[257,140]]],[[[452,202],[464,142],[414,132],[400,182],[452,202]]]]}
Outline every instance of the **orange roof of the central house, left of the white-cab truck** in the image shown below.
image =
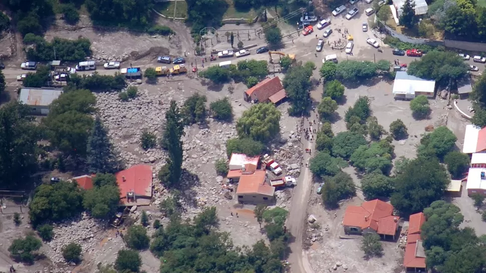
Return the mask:
{"type": "Polygon", "coordinates": [[[236,194],[260,193],[274,196],[275,187],[265,183],[266,174],[267,171],[264,169],[256,170],[252,174],[241,174],[236,194]]]}

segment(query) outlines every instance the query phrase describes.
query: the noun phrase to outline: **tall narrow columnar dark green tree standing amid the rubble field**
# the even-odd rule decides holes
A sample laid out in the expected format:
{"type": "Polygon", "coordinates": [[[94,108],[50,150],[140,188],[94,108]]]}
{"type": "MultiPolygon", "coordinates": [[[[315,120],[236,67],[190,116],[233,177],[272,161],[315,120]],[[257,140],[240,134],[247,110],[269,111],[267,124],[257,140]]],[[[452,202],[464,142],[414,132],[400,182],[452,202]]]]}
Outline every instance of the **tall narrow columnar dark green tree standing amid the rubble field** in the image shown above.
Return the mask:
{"type": "Polygon", "coordinates": [[[169,110],[165,113],[165,130],[163,143],[168,148],[167,163],[159,171],[159,179],[166,186],[174,186],[180,180],[182,173],[182,141],[184,127],[181,114],[175,100],[170,101],[169,110]]]}

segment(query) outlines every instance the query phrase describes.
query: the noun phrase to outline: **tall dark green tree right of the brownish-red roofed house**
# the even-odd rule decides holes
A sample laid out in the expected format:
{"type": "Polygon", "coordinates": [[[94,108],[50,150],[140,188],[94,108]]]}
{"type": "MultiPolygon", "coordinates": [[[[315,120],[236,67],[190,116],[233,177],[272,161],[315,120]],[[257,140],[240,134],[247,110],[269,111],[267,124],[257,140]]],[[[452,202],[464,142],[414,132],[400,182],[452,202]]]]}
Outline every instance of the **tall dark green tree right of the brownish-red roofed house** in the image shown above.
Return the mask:
{"type": "Polygon", "coordinates": [[[312,70],[305,66],[294,66],[285,74],[283,86],[292,104],[289,108],[291,115],[301,116],[308,112],[312,103],[309,95],[312,87],[311,75],[312,70]]]}

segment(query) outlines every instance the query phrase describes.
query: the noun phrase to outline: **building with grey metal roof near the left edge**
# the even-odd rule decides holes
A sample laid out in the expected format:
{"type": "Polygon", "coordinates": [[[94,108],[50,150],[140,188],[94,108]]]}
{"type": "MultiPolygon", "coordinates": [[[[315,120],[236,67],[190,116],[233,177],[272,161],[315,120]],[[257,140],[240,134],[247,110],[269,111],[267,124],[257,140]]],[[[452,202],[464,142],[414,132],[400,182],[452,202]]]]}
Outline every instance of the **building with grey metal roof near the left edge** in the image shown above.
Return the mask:
{"type": "Polygon", "coordinates": [[[19,102],[29,105],[34,115],[49,114],[49,105],[63,93],[54,88],[21,88],[19,102]]]}

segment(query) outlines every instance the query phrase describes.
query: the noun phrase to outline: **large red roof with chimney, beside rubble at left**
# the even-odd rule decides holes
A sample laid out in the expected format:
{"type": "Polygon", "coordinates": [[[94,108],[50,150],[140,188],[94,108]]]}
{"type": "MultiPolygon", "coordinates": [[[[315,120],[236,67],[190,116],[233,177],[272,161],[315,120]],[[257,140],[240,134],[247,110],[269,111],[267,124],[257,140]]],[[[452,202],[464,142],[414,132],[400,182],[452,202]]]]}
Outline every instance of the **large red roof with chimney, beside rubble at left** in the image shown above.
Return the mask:
{"type": "Polygon", "coordinates": [[[152,166],[134,165],[125,170],[115,173],[116,182],[120,188],[120,198],[123,203],[131,202],[127,200],[127,192],[133,191],[135,196],[150,198],[152,197],[152,166]]]}

